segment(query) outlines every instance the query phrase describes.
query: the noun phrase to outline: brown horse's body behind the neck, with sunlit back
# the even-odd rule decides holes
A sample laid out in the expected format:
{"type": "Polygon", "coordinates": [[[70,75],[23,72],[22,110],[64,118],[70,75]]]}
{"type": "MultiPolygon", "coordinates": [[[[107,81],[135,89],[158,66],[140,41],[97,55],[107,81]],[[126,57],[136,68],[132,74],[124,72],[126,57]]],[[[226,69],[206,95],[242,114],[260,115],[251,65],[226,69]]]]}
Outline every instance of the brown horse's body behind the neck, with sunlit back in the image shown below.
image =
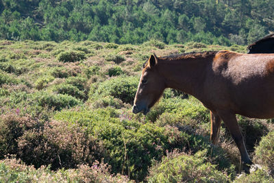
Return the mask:
{"type": "Polygon", "coordinates": [[[247,117],[274,117],[274,54],[220,51],[209,75],[216,106],[247,117]]]}

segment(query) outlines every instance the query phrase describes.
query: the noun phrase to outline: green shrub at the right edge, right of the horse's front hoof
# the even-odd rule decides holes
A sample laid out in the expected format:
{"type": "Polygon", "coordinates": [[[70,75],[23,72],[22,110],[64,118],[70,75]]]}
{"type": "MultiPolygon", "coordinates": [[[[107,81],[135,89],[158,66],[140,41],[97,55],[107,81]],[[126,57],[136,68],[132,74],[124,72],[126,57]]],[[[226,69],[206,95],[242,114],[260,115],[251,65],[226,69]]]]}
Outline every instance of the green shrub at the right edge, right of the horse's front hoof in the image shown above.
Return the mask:
{"type": "Polygon", "coordinates": [[[260,144],[256,147],[253,160],[269,169],[274,178],[274,131],[262,137],[260,144]]]}

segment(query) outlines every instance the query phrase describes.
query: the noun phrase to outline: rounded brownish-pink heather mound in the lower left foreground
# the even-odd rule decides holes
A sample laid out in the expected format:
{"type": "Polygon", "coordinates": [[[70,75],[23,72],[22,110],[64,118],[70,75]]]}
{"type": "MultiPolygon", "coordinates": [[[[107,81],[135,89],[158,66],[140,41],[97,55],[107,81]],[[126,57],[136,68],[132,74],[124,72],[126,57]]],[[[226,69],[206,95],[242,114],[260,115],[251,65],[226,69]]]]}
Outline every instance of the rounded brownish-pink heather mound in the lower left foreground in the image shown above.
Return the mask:
{"type": "Polygon", "coordinates": [[[92,164],[103,157],[99,141],[77,124],[62,121],[45,122],[42,127],[27,130],[18,139],[17,156],[36,168],[51,164],[51,169],[76,168],[92,164]]]}

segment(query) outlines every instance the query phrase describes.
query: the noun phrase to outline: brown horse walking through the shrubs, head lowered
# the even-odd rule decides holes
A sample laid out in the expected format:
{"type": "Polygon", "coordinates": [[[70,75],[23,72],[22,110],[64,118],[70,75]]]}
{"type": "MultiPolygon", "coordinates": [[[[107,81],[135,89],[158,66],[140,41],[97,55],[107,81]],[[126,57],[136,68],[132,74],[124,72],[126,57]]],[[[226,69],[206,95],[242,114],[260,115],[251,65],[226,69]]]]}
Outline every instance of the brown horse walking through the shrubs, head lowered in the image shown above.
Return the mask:
{"type": "Polygon", "coordinates": [[[245,171],[249,171],[252,162],[236,114],[274,117],[274,54],[208,51],[160,58],[153,55],[144,64],[132,112],[147,114],[165,88],[193,95],[210,110],[213,143],[224,121],[240,150],[245,171]]]}

